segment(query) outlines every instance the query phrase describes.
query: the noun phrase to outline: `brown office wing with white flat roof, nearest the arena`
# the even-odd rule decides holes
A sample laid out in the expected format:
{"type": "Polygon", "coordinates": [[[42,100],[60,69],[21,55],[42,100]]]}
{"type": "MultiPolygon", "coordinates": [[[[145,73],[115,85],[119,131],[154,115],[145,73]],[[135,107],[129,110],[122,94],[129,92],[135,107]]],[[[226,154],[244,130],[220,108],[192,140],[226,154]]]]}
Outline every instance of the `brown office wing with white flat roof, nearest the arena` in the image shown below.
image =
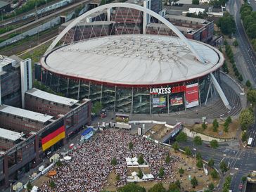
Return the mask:
{"type": "Polygon", "coordinates": [[[49,94],[39,89],[30,89],[25,93],[25,109],[37,113],[52,115],[56,119],[79,105],[79,101],[49,94]]]}

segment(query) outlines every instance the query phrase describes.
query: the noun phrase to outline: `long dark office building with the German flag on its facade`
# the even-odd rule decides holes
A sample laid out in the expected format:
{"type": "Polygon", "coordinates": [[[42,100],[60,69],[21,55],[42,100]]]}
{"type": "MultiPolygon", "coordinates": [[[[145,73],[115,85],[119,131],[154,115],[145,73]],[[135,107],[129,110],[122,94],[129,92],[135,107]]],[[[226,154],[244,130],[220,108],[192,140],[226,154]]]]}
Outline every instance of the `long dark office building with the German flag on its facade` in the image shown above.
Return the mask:
{"type": "Polygon", "coordinates": [[[58,119],[29,110],[0,105],[0,127],[4,127],[5,132],[15,131],[17,136],[14,138],[14,135],[11,137],[8,134],[10,142],[6,151],[1,151],[6,144],[1,143],[0,136],[0,188],[8,186],[10,179],[22,178],[25,172],[40,162],[41,158],[56,151],[67,143],[72,134],[76,134],[90,123],[91,101],[87,99],[72,105],[72,109],[68,113],[59,115],[58,119]],[[24,136],[18,139],[18,136],[23,134],[24,136]]]}

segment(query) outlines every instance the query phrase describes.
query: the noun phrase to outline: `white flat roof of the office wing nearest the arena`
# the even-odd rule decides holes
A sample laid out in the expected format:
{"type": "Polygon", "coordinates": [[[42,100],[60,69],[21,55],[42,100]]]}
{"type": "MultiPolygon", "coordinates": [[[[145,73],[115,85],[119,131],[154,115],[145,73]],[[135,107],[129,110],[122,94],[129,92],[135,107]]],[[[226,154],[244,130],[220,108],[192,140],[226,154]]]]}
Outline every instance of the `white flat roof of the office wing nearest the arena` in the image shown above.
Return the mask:
{"type": "Polygon", "coordinates": [[[36,88],[32,88],[30,90],[28,90],[26,92],[26,94],[32,95],[32,96],[36,96],[38,98],[41,99],[45,99],[47,101],[52,101],[54,103],[60,103],[62,105],[68,105],[68,106],[72,106],[75,105],[75,103],[78,103],[78,100],[72,99],[72,98],[66,98],[64,96],[57,96],[54,94],[49,94],[46,91],[41,91],[39,89],[36,88]]]}

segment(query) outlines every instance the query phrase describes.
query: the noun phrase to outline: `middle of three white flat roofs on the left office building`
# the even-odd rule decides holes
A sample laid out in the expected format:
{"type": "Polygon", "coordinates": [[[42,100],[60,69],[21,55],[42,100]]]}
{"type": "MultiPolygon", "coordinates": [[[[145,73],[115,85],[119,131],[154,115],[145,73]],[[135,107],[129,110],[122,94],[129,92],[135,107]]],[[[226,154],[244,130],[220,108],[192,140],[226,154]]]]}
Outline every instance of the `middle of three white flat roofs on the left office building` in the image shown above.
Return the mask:
{"type": "Polygon", "coordinates": [[[33,112],[31,110],[15,108],[8,105],[0,105],[0,112],[16,115],[18,117],[25,117],[27,119],[35,120],[38,122],[47,122],[53,118],[53,116],[50,115],[44,115],[41,113],[33,112]]]}

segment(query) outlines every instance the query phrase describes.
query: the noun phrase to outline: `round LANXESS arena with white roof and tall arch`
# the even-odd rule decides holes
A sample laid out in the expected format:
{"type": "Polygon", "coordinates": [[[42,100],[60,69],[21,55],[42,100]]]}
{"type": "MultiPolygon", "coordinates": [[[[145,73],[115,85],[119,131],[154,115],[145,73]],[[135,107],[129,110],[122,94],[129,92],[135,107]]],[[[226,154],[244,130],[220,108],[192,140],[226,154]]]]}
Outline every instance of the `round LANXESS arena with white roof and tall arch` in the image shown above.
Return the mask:
{"type": "Polygon", "coordinates": [[[120,113],[186,110],[212,89],[230,108],[219,86],[222,53],[186,39],[147,2],[106,4],[68,23],[41,58],[42,82],[120,113]]]}

